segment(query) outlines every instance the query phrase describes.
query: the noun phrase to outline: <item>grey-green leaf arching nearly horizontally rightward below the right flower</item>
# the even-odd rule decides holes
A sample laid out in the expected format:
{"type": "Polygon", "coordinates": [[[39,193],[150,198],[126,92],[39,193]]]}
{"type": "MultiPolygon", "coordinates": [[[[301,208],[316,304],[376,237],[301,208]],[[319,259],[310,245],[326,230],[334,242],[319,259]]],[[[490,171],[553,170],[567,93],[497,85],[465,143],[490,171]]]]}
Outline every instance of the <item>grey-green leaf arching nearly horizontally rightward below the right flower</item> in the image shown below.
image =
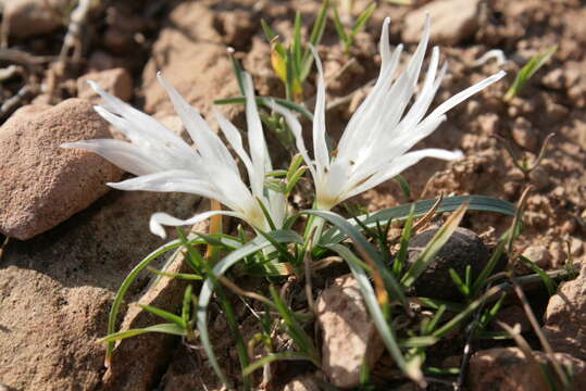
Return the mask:
{"type": "MultiPolygon", "coordinates": [[[[407,217],[409,216],[411,205],[415,205],[414,216],[420,217],[425,215],[432,209],[437,199],[417,201],[378,211],[369,216],[359,216],[358,218],[361,219],[369,227],[374,227],[376,225],[376,222],[378,222],[379,224],[385,224],[389,219],[403,220],[407,219],[407,217]]],[[[466,201],[470,202],[469,211],[495,212],[508,216],[515,215],[515,206],[512,203],[486,195],[457,195],[445,198],[439,204],[436,213],[453,212],[466,201]]],[[[353,226],[357,225],[351,219],[349,219],[349,223],[353,226]]],[[[322,239],[320,240],[320,244],[331,242],[339,243],[346,238],[347,237],[342,232],[340,232],[339,229],[332,228],[324,232],[322,239]]]]}

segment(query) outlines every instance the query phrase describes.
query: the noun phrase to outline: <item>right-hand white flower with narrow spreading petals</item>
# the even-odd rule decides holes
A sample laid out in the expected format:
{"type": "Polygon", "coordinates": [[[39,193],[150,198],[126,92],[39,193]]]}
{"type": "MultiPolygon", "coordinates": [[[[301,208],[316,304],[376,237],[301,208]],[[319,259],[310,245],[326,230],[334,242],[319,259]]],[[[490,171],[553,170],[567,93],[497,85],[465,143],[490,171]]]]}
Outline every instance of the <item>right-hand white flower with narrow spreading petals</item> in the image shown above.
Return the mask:
{"type": "Polygon", "coordinates": [[[444,64],[438,71],[439,49],[435,47],[421,90],[407,113],[413,97],[425,50],[429,40],[429,18],[425,22],[423,38],[404,72],[395,80],[402,46],[391,53],[388,42],[389,18],[385,20],[381,36],[383,64],[378,79],[370,94],[350,118],[335,153],[329,155],[325,138],[325,85],[322,64],[315,50],[319,70],[317,96],[313,117],[314,161],[311,161],[301,136],[301,126],[286,109],[273,104],[291,128],[299,152],[303,155],[315,182],[316,207],[331,210],[344,200],[374,188],[395,177],[423,157],[454,160],[460,151],[423,149],[408,152],[415,143],[431,135],[446,119],[445,113],[472,94],[504,76],[499,72],[457,93],[425,116],[446,74],[444,64]]]}

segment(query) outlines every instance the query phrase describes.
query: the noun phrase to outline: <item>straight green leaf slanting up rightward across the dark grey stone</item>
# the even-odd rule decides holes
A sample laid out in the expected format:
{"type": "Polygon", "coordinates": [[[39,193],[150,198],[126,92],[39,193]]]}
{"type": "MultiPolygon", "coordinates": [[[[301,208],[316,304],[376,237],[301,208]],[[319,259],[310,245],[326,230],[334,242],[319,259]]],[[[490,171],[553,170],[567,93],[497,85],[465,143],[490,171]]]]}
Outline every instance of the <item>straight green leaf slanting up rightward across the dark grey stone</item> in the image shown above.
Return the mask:
{"type": "Polygon", "coordinates": [[[435,255],[444,244],[450,239],[456,228],[460,225],[462,217],[467,211],[467,203],[463,203],[441,226],[441,228],[434,235],[432,240],[425,245],[425,249],[420,253],[413,265],[407,270],[401,278],[401,283],[406,287],[411,287],[415,280],[421,276],[425,268],[432,263],[435,255]]]}

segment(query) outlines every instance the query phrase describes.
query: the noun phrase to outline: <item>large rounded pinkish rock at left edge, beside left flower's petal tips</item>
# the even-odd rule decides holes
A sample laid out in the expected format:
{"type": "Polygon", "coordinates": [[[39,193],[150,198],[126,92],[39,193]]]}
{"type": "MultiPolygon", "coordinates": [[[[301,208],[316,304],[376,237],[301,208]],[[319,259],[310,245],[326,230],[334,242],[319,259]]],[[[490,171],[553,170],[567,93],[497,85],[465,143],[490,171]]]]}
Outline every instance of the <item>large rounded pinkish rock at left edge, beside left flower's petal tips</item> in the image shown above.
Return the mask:
{"type": "Polygon", "coordinates": [[[0,231],[30,239],[86,209],[122,171],[63,142],[110,138],[91,104],[68,99],[0,128],[0,231]]]}

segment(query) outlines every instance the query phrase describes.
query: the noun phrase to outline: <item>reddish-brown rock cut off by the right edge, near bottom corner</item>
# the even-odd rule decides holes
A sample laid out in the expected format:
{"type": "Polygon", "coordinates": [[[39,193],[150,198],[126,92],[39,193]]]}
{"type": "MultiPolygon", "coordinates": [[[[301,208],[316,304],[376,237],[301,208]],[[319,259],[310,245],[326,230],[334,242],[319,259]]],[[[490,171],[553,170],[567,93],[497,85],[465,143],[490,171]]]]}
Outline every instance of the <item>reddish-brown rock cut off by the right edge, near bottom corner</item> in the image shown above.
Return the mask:
{"type": "Polygon", "coordinates": [[[549,299],[544,331],[558,352],[586,361],[586,275],[563,282],[549,299]]]}

